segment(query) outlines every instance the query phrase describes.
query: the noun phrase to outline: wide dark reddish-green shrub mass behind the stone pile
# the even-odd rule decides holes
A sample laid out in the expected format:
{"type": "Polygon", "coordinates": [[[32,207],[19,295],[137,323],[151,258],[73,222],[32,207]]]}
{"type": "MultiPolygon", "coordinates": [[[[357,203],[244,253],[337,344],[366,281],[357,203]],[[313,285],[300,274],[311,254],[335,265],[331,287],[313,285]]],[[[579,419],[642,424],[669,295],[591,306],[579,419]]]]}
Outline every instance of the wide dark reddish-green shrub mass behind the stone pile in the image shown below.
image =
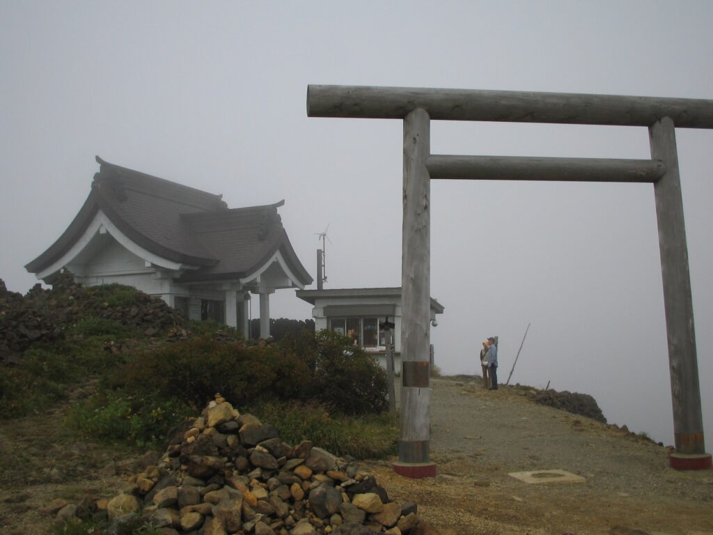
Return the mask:
{"type": "Polygon", "coordinates": [[[270,399],[313,400],[344,414],[378,414],[387,407],[384,370],[333,332],[253,347],[195,337],[134,357],[107,386],[150,389],[196,409],[216,392],[237,407],[270,399]]]}

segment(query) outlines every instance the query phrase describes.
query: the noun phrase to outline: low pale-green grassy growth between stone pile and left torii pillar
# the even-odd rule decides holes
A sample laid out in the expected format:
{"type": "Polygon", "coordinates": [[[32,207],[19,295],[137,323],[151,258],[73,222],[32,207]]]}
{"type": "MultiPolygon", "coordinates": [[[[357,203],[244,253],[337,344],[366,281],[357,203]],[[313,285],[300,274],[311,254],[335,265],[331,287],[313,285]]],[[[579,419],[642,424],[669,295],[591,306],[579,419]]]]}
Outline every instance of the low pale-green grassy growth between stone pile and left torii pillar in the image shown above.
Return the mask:
{"type": "Polygon", "coordinates": [[[337,455],[383,459],[396,453],[399,432],[389,414],[369,417],[334,415],[323,404],[265,403],[252,411],[274,425],[288,444],[308,439],[337,455]]]}

